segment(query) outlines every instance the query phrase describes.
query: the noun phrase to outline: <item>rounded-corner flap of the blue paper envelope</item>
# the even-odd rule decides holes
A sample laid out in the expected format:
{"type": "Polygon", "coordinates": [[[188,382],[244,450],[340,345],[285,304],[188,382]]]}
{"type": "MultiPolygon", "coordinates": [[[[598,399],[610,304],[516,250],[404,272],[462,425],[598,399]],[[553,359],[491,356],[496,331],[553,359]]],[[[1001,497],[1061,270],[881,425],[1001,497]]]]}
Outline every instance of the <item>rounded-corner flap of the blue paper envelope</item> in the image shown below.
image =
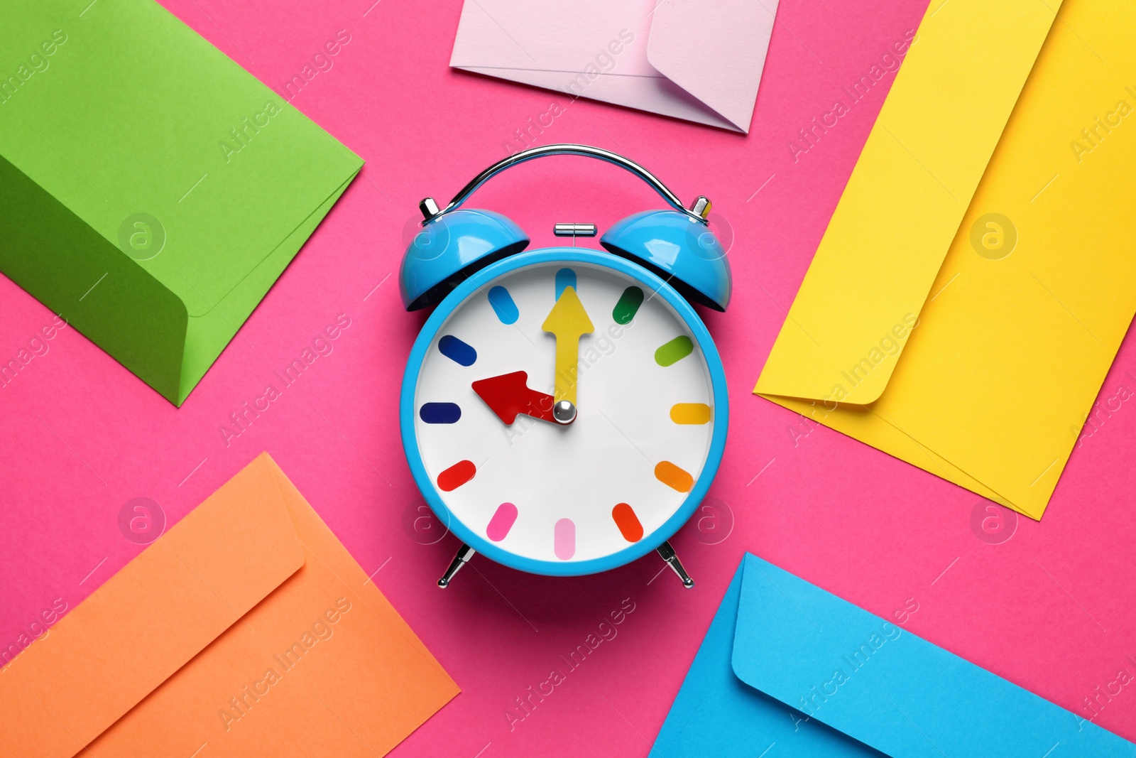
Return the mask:
{"type": "Polygon", "coordinates": [[[755,556],[733,669],[893,758],[1136,756],[1136,745],[755,556]]]}

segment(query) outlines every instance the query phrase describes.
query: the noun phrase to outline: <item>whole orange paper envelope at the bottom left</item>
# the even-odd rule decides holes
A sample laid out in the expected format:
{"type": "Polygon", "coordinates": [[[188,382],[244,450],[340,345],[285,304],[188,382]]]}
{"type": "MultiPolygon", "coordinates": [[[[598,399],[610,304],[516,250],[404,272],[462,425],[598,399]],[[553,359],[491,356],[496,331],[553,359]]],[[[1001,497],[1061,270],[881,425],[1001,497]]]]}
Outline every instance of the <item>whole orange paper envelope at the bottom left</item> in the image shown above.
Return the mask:
{"type": "Polygon", "coordinates": [[[0,672],[0,756],[374,758],[457,693],[262,453],[0,672]]]}

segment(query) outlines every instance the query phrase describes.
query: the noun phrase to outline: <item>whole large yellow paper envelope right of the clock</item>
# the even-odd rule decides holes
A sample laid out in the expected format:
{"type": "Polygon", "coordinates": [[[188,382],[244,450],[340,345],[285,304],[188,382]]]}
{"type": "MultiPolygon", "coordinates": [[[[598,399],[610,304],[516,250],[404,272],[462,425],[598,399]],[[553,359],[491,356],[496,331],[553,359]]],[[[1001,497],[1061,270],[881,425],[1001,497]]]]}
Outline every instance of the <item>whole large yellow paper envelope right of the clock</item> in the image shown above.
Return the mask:
{"type": "Polygon", "coordinates": [[[932,2],[754,391],[1041,518],[1136,313],[1134,34],[932,2]]]}

